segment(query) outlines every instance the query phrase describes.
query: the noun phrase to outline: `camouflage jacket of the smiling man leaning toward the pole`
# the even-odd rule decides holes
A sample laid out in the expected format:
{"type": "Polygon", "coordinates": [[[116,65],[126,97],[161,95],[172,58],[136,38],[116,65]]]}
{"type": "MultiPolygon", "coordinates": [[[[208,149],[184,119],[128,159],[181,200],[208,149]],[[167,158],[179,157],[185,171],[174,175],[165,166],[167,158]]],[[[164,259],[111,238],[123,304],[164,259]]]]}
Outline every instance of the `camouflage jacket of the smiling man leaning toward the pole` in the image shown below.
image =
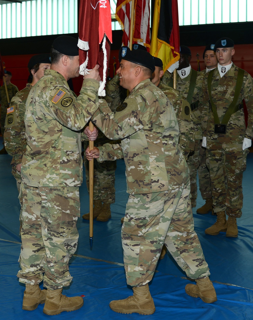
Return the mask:
{"type": "Polygon", "coordinates": [[[122,139],[128,193],[175,189],[189,180],[175,111],[149,79],[135,86],[115,114],[100,104],[93,121],[108,138],[122,139]]]}

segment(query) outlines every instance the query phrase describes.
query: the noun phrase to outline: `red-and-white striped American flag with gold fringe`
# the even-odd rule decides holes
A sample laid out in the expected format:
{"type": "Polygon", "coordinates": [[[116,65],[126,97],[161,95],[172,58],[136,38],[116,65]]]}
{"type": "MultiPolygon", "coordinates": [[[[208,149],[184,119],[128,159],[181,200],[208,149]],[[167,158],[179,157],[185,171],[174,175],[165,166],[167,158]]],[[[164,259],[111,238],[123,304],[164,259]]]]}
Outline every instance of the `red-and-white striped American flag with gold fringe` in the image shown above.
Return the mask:
{"type": "MultiPolygon", "coordinates": [[[[123,30],[122,45],[129,47],[132,0],[118,0],[115,18],[123,30]]],[[[133,43],[150,49],[149,0],[135,0],[133,43]]]]}

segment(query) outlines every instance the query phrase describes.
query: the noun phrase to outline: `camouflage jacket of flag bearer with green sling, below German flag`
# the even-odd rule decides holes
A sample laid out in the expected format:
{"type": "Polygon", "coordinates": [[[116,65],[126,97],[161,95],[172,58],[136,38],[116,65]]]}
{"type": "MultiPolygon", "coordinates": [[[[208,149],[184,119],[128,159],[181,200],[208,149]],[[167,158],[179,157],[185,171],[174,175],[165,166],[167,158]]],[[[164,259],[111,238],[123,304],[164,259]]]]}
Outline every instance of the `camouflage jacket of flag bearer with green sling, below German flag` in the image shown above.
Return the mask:
{"type": "MultiPolygon", "coordinates": [[[[192,75],[192,69],[189,75],[184,79],[181,79],[179,74],[176,73],[176,89],[184,96],[185,99],[187,98],[187,95],[188,95],[191,75],[192,75]]],[[[166,71],[162,77],[162,83],[169,86],[171,79],[173,79],[173,73],[169,73],[168,71],[166,71]]],[[[203,81],[203,73],[198,72],[191,103],[201,100],[202,81],[203,81]]],[[[192,121],[194,124],[194,140],[202,139],[201,112],[202,112],[201,103],[199,104],[198,108],[192,110],[192,121]]]]}

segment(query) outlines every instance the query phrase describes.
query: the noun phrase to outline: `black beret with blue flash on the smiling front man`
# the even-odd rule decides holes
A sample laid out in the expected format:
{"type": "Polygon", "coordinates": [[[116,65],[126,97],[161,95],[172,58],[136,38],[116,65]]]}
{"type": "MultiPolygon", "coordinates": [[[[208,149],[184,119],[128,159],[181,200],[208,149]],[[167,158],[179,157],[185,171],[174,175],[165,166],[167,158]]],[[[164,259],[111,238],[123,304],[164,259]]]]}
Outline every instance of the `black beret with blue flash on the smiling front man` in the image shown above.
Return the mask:
{"type": "Polygon", "coordinates": [[[155,71],[154,59],[151,54],[144,50],[131,51],[128,47],[124,46],[119,49],[118,60],[121,59],[139,64],[143,67],[149,68],[152,72],[155,71]]]}

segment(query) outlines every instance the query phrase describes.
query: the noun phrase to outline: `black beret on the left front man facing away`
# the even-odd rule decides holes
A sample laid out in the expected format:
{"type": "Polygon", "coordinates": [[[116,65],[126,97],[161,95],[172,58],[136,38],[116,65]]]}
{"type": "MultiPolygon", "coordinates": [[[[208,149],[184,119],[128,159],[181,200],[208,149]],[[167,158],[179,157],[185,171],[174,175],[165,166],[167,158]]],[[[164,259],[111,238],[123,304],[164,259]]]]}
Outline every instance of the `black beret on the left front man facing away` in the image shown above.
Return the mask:
{"type": "Polygon", "coordinates": [[[59,36],[52,44],[52,48],[67,56],[78,56],[78,39],[70,36],[59,36]]]}

